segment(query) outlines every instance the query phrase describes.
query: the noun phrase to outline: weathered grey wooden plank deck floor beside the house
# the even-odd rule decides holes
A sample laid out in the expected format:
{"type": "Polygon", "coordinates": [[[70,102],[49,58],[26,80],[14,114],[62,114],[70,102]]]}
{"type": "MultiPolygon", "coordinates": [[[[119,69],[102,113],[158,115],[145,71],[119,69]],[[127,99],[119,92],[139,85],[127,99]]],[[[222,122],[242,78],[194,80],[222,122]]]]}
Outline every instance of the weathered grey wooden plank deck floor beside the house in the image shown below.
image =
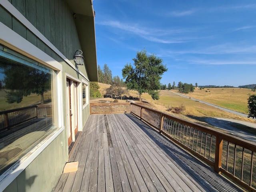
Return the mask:
{"type": "Polygon", "coordinates": [[[242,191],[132,114],[90,115],[55,192],[242,191]]]}

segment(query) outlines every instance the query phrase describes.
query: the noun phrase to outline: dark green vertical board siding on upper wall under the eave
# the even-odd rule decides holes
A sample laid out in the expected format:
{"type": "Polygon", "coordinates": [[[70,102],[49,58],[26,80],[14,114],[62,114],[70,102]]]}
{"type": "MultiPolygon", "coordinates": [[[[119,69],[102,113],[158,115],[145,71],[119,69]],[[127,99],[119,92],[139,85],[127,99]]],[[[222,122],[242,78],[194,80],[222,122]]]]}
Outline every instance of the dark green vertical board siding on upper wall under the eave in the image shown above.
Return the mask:
{"type": "MultiPolygon", "coordinates": [[[[10,2],[68,60],[73,60],[74,52],[81,49],[81,46],[76,31],[75,18],[63,0],[10,0],[10,2]]],[[[63,61],[8,11],[0,7],[0,12],[0,22],[55,60],[63,61]]]]}

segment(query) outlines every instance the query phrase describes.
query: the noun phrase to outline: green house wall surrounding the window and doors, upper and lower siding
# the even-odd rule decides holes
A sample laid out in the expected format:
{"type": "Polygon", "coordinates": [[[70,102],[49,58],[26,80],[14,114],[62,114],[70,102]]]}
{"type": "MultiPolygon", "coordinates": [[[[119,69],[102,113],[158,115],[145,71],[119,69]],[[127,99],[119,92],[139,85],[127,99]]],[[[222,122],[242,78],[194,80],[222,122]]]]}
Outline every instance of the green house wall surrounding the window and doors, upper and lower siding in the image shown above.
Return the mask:
{"type": "MultiPolygon", "coordinates": [[[[7,1],[7,0],[6,0],[7,1]]],[[[15,178],[4,192],[51,191],[62,174],[68,160],[67,120],[66,120],[66,75],[88,82],[85,66],[74,65],[74,53],[81,49],[75,25],[75,18],[66,2],[62,0],[8,0],[29,22],[22,23],[12,11],[0,6],[0,22],[19,34],[22,38],[48,54],[62,65],[62,131],[34,160],[15,178]],[[31,29],[36,28],[39,34],[31,29]],[[49,42],[47,42],[47,40],[49,42]],[[56,51],[57,50],[57,51],[56,51]],[[68,61],[67,61],[67,60],[68,61]],[[72,66],[73,65],[73,66],[72,66]]],[[[8,35],[8,34],[7,34],[8,35]]],[[[1,37],[0,37],[1,38],[1,37]]],[[[81,86],[79,87],[81,88],[81,86]]],[[[90,105],[80,107],[81,130],[88,119],[90,105]]]]}

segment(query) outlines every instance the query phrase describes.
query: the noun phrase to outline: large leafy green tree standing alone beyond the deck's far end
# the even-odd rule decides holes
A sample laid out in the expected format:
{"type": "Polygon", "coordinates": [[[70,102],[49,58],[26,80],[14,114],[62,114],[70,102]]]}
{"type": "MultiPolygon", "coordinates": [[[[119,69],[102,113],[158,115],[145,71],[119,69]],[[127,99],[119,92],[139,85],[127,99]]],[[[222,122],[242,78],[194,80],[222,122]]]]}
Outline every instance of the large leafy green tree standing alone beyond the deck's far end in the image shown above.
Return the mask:
{"type": "Polygon", "coordinates": [[[122,69],[122,76],[128,89],[138,91],[141,94],[148,93],[155,100],[159,99],[161,75],[167,71],[165,65],[162,64],[163,60],[156,57],[155,54],[147,54],[143,49],[137,52],[134,61],[134,67],[131,64],[126,64],[122,69]]]}

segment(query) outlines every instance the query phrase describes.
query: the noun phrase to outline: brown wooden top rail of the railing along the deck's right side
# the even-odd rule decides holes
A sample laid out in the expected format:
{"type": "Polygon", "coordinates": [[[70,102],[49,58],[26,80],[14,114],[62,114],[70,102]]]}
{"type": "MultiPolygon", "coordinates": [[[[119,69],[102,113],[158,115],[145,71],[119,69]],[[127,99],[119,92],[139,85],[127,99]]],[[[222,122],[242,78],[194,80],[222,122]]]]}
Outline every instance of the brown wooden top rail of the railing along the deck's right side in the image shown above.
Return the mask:
{"type": "Polygon", "coordinates": [[[214,130],[213,128],[209,128],[209,127],[206,127],[206,126],[203,126],[203,125],[200,125],[200,124],[196,124],[196,123],[192,123],[192,122],[189,122],[189,121],[186,121],[186,120],[182,120],[181,118],[175,117],[173,115],[170,115],[170,114],[167,114],[167,113],[164,113],[164,112],[160,112],[158,110],[150,109],[150,108],[148,108],[146,106],[143,106],[141,104],[136,104],[136,103],[131,103],[131,104],[139,106],[139,107],[144,108],[146,110],[150,110],[150,111],[155,112],[157,114],[162,114],[163,116],[165,116],[167,118],[175,120],[175,121],[177,121],[181,124],[185,124],[187,126],[190,126],[192,128],[196,128],[196,129],[201,130],[203,132],[206,132],[208,134],[211,134],[211,135],[214,135],[214,136],[221,136],[222,139],[224,139],[228,142],[237,144],[241,147],[244,147],[246,149],[249,149],[251,151],[256,152],[256,143],[254,143],[254,142],[250,142],[248,140],[245,140],[245,139],[242,139],[242,138],[230,135],[230,134],[226,134],[224,132],[214,130]]]}

